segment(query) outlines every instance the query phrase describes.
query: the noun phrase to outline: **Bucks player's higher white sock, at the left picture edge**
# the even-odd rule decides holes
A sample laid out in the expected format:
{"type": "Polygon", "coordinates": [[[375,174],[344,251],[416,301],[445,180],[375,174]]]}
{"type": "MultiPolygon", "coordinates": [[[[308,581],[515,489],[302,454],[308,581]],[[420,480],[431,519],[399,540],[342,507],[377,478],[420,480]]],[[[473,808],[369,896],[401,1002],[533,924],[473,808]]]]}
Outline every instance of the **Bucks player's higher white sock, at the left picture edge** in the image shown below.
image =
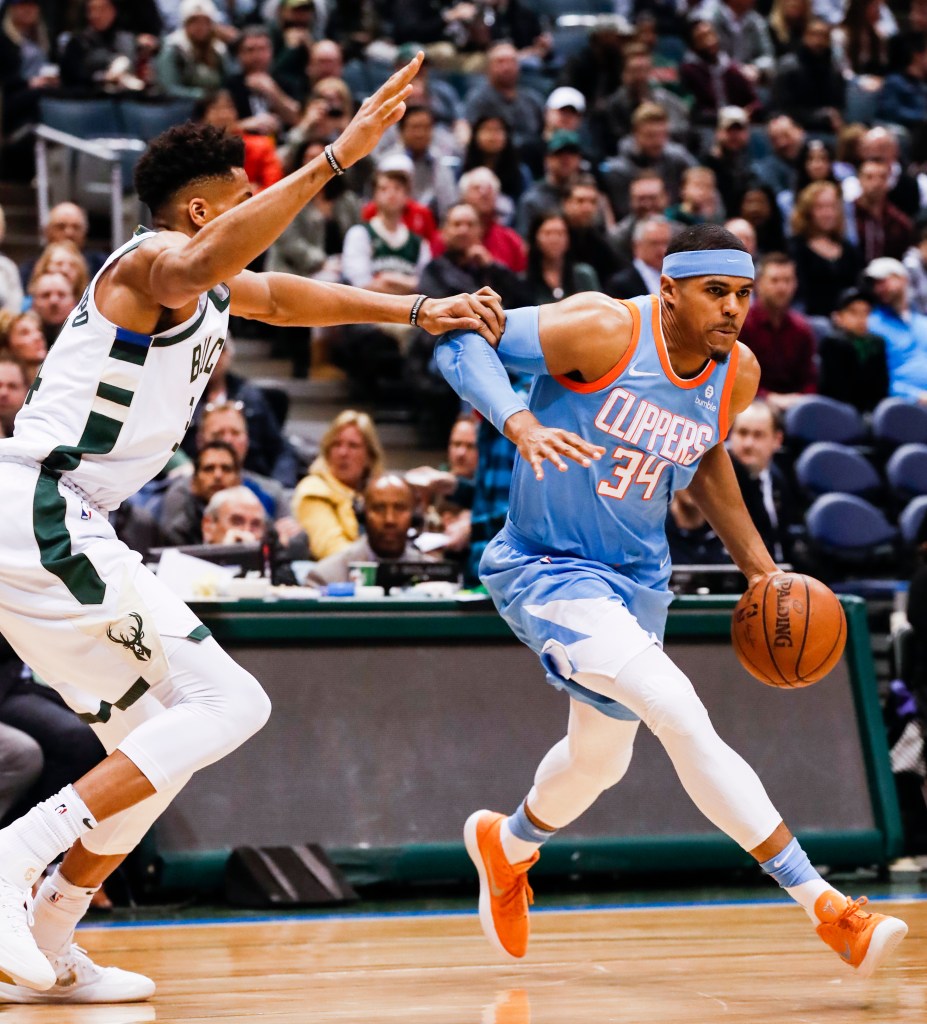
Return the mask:
{"type": "Polygon", "coordinates": [[[0,878],[24,889],[30,887],[58,854],[96,824],[73,785],[0,831],[0,878]]]}

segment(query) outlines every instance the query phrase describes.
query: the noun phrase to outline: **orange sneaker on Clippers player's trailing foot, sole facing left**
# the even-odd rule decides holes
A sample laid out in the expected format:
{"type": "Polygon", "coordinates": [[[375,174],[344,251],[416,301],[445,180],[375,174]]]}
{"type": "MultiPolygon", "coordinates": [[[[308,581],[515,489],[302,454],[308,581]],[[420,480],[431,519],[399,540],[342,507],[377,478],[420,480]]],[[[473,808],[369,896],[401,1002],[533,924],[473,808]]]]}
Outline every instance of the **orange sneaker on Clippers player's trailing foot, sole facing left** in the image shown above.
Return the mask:
{"type": "Polygon", "coordinates": [[[499,836],[505,817],[474,811],[464,825],[464,843],[479,874],[479,923],[486,937],[504,956],[520,958],[528,952],[528,907],[535,901],[528,869],[541,854],[520,864],[508,862],[499,836]]]}

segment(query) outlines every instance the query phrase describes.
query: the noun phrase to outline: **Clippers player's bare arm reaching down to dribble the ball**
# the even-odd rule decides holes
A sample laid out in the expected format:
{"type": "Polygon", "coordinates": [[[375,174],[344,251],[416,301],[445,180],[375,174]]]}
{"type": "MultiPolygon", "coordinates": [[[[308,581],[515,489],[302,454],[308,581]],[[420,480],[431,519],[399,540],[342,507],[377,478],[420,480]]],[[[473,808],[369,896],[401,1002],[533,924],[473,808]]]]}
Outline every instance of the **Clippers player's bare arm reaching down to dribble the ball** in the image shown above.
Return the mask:
{"type": "MultiPolygon", "coordinates": [[[[756,356],[741,346],[738,377],[730,398],[731,422],[753,401],[759,380],[760,368],[756,356]]],[[[702,457],[688,489],[748,581],[777,571],[744,504],[741,485],[723,442],[702,457]]]]}

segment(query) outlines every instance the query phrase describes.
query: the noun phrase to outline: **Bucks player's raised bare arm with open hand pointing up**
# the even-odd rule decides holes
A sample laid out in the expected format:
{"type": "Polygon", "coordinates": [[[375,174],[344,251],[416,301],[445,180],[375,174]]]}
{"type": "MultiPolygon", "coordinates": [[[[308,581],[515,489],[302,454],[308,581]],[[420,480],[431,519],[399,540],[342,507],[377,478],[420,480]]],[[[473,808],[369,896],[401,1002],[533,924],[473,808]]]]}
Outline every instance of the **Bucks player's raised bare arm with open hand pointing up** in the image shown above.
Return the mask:
{"type": "MultiPolygon", "coordinates": [[[[373,152],[383,132],[406,110],[410,83],[421,67],[418,53],[369,96],[351,123],[333,143],[341,167],[350,167],[373,152]]],[[[319,194],[334,172],[324,156],[294,171],[247,202],[206,224],[182,245],[164,247],[151,264],[151,297],[177,309],[198,295],[227,282],[264,252],[297,213],[319,194]]]]}

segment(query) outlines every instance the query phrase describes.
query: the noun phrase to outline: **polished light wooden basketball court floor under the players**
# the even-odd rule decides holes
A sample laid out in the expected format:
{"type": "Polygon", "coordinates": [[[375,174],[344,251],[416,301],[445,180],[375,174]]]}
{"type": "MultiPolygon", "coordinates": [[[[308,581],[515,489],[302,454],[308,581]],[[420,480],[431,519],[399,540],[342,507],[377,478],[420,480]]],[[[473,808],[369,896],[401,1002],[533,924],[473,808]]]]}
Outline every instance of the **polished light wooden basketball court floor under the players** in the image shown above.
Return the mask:
{"type": "Polygon", "coordinates": [[[475,913],[82,929],[100,963],[158,982],[149,1004],[0,1007],[0,1024],[924,1024],[927,899],[878,902],[911,931],[860,981],[793,904],[535,912],[500,962],[475,913]]]}

